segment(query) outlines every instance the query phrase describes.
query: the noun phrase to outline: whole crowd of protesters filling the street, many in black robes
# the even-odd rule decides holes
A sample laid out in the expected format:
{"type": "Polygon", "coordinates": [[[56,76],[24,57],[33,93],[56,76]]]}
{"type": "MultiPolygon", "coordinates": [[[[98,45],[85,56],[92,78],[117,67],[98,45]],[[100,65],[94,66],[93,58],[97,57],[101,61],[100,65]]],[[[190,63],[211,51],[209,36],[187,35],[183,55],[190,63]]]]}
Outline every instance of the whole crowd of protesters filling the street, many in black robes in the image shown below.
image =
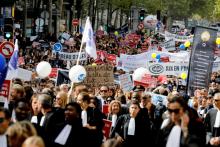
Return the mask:
{"type": "MultiPolygon", "coordinates": [[[[81,37],[73,36],[74,45],[68,52],[78,51],[81,37]]],[[[141,34],[131,47],[122,36],[105,35],[97,37],[96,44],[109,54],[137,54],[143,46],[149,47],[149,37],[155,44],[162,39],[158,34],[141,34]]],[[[24,58],[20,67],[31,71],[43,60],[53,67],[67,68],[67,62],[54,56],[51,49],[23,48],[19,56],[24,58]]],[[[93,62],[88,60],[87,64],[93,62]]],[[[194,97],[185,94],[173,77],[153,89],[138,85],[129,92],[119,86],[56,86],[49,78],[31,82],[15,78],[9,100],[0,106],[0,146],[220,146],[219,78],[220,73],[212,73],[209,89],[196,90],[194,97]],[[165,96],[167,103],[153,103],[150,93],[165,96]],[[111,122],[107,135],[103,120],[111,122]]]]}

